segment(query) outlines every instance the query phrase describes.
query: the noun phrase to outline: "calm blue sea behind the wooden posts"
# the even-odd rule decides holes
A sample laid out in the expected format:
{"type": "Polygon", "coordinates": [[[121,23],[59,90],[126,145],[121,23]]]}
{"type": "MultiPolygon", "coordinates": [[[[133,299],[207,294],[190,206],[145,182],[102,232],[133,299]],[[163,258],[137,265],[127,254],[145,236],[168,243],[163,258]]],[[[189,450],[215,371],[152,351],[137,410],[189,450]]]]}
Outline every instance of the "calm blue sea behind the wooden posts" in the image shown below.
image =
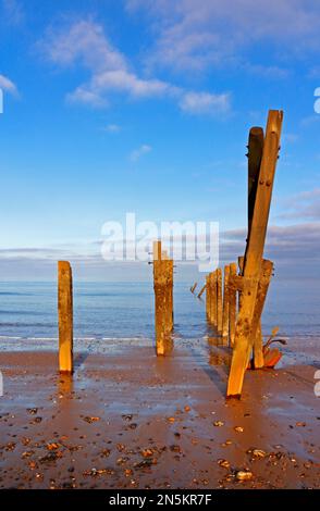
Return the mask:
{"type": "MultiPolygon", "coordinates": [[[[174,285],[174,337],[206,339],[206,303],[174,285]]],[[[199,290],[199,288],[197,289],[199,290]]],[[[197,291],[196,290],[196,291],[197,291]]],[[[205,297],[205,295],[204,295],[205,297]]],[[[77,282],[74,284],[74,339],[99,349],[108,342],[152,344],[155,338],[152,282],[77,282]]],[[[263,335],[279,326],[282,337],[320,337],[320,279],[273,281],[262,317],[263,335]]],[[[57,283],[0,283],[0,348],[57,348],[57,283]]]]}

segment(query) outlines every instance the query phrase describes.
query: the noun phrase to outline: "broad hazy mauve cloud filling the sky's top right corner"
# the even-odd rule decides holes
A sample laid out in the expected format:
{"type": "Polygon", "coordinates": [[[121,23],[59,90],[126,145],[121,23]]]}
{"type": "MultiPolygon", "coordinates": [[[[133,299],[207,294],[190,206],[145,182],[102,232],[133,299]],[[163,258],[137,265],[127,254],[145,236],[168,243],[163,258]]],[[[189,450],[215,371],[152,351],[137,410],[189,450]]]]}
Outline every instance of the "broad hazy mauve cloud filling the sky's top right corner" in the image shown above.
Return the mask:
{"type": "MultiPolygon", "coordinates": [[[[274,47],[288,55],[319,51],[320,3],[315,1],[126,0],[126,5],[151,21],[156,43],[149,62],[156,65],[202,70],[236,60],[245,66],[247,49],[258,43],[271,43],[270,58],[274,47]]],[[[282,71],[268,65],[266,73],[282,71]]]]}

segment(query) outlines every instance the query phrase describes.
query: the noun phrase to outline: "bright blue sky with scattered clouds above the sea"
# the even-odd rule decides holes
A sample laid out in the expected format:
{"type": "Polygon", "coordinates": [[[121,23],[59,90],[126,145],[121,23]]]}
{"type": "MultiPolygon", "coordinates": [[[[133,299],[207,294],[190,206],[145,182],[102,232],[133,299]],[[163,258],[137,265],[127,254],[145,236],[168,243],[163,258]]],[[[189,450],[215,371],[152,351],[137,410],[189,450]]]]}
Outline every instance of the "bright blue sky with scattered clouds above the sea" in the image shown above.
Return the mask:
{"type": "Polygon", "coordinates": [[[54,278],[59,258],[118,278],[97,241],[127,211],[219,221],[234,258],[247,134],[269,109],[284,126],[268,253],[317,271],[319,26],[307,0],[0,0],[0,278],[54,278]]]}

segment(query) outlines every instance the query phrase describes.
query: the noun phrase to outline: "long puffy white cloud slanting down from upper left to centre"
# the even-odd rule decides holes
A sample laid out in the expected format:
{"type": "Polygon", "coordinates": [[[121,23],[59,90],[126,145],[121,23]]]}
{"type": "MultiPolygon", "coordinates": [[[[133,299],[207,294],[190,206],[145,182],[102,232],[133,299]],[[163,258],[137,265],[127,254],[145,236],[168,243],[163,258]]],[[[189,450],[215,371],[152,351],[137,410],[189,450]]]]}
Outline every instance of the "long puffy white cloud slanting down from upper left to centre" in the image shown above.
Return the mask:
{"type": "Polygon", "coordinates": [[[221,110],[222,102],[226,104],[229,101],[226,95],[189,92],[161,79],[140,77],[132,70],[125,55],[109,42],[103,28],[91,21],[77,22],[60,28],[58,33],[49,30],[41,49],[56,64],[71,66],[79,63],[89,70],[88,82],[67,94],[69,102],[106,107],[112,92],[122,92],[133,99],[171,98],[177,100],[184,111],[200,113],[202,110],[202,113],[210,113],[214,102],[221,110]],[[198,102],[207,101],[208,108],[202,104],[202,109],[196,111],[195,107],[188,107],[187,103],[193,98],[195,101],[196,95],[198,102]]]}

